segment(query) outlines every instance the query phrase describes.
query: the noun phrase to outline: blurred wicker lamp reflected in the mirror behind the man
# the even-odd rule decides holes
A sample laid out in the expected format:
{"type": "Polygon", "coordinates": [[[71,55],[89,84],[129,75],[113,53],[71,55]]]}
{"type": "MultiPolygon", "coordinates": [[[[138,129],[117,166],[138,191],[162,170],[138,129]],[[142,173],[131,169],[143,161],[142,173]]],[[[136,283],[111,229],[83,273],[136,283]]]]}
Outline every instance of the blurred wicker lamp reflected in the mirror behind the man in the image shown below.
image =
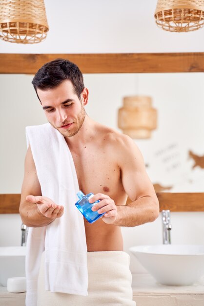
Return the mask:
{"type": "Polygon", "coordinates": [[[151,97],[124,97],[118,111],[118,127],[133,139],[150,138],[151,131],[157,128],[157,110],[152,108],[151,97]]]}

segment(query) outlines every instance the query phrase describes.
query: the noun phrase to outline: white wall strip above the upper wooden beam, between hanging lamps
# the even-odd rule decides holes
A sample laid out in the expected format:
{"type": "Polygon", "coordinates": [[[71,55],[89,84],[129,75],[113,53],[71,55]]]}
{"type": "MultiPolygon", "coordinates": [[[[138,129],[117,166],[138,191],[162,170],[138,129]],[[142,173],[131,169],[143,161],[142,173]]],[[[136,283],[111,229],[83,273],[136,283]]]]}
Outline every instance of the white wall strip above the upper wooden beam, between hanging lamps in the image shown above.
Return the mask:
{"type": "Polygon", "coordinates": [[[154,21],[156,0],[45,0],[49,32],[33,45],[0,42],[1,53],[203,52],[204,29],[170,33],[154,21]]]}

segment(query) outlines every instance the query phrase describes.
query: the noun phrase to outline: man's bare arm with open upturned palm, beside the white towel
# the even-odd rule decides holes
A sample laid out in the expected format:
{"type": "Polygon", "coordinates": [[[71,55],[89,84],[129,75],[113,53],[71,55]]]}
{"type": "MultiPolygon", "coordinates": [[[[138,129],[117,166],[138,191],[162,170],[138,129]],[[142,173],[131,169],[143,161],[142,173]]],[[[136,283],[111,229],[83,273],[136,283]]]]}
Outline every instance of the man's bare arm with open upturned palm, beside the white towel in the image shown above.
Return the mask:
{"type": "Polygon", "coordinates": [[[30,147],[25,157],[19,211],[22,222],[29,227],[48,225],[63,215],[63,206],[41,196],[41,186],[30,147]]]}

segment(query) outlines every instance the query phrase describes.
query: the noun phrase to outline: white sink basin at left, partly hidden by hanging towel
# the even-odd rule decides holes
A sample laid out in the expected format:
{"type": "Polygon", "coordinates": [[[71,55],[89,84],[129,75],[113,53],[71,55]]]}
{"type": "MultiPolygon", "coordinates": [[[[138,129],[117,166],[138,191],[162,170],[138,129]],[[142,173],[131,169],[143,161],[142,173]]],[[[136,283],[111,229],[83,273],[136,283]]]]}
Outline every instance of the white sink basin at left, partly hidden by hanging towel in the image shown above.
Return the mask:
{"type": "Polygon", "coordinates": [[[0,246],[0,285],[9,277],[25,276],[25,246],[0,246]]]}

